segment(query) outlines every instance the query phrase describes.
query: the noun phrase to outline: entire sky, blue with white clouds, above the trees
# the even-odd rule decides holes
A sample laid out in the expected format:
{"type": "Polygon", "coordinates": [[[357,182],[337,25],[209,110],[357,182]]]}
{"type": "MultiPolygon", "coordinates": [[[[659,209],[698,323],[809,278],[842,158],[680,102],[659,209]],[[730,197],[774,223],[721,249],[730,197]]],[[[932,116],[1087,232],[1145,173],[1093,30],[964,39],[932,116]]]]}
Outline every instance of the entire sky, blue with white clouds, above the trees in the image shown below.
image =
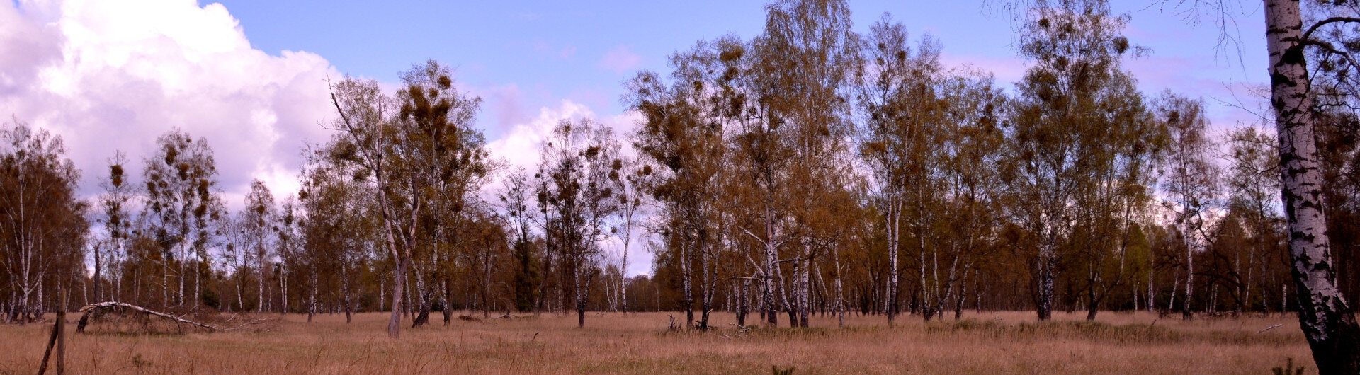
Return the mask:
{"type": "MultiPolygon", "coordinates": [[[[857,31],[888,12],[913,39],[937,38],[945,64],[993,72],[1009,87],[1025,61],[1012,15],[994,3],[850,7],[857,31]]],[[[1202,98],[1212,129],[1254,124],[1265,22],[1259,3],[1242,3],[1248,8],[1231,10],[1234,41],[1224,43],[1214,18],[1112,1],[1132,18],[1130,42],[1152,50],[1125,68],[1149,95],[1202,98]]],[[[256,178],[275,197],[296,192],[303,145],[330,135],[322,128],[333,118],[328,80],[348,75],[396,88],[413,64],[454,67],[460,90],[484,101],[476,126],[492,155],[532,170],[559,120],[631,129],[636,117],[619,98],[639,69],[665,73],[676,50],[728,34],[749,39],[763,26],[763,1],[733,0],[11,0],[0,5],[0,114],[61,136],[84,171],[84,196],[97,194],[114,152],[140,171],[156,136],[184,129],[214,148],[223,196],[239,208],[256,178]]],[[[628,273],[647,273],[650,262],[632,251],[628,273]]]]}

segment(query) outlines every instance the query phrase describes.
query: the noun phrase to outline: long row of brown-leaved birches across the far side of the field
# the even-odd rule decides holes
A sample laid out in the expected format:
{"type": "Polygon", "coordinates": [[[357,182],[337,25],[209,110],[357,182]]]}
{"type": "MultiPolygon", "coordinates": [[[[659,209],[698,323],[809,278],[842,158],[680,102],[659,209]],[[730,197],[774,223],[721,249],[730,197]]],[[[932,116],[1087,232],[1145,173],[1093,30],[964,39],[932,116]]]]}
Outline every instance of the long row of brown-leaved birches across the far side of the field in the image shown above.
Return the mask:
{"type": "MultiPolygon", "coordinates": [[[[669,72],[630,79],[635,130],[563,121],[533,170],[488,155],[480,99],[438,62],[396,92],[347,77],[302,189],[276,198],[256,181],[237,212],[204,139],[169,132],[140,166],[113,155],[103,193],[82,200],[60,137],[14,120],[0,130],[0,303],[8,322],[97,300],[392,311],[392,336],[404,315],[449,323],[460,308],[581,325],[586,311],[683,310],[699,329],[713,311],[806,326],[1297,308],[1274,136],[1219,133],[1202,99],[1140,91],[1122,64],[1148,52],[1122,34],[1129,18],[1062,5],[1028,14],[1010,88],[942,64],[941,42],[888,16],[857,33],[843,1],[778,1],[760,35],[700,41],[669,72]],[[624,272],[638,251],[654,255],[650,277],[624,272]]],[[[1353,300],[1360,121],[1327,77],[1311,109],[1353,300]]]]}

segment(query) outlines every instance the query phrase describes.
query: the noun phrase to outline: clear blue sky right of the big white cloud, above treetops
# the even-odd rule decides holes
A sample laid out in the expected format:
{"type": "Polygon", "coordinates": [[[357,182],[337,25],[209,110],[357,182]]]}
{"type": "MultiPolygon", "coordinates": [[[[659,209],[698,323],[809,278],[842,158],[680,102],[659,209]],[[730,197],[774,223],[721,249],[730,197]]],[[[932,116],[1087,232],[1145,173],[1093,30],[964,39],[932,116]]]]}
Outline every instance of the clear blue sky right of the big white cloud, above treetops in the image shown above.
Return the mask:
{"type": "MultiPolygon", "coordinates": [[[[313,52],[341,72],[384,82],[397,82],[397,72],[435,58],[457,67],[458,80],[483,92],[517,88],[522,96],[484,95],[481,126],[491,137],[560,99],[582,103],[596,114],[622,113],[620,83],[636,69],[665,71],[666,56],[675,50],[729,33],[751,38],[764,23],[760,1],[222,4],[241,22],[252,45],[268,53],[313,52]]],[[[1238,33],[1246,38],[1239,61],[1236,49],[1217,48],[1214,24],[1195,24],[1208,19],[1187,18],[1183,10],[1146,0],[1112,7],[1133,16],[1133,42],[1153,50],[1149,58],[1132,64],[1136,73],[1145,72],[1149,92],[1174,87],[1217,98],[1224,96],[1217,90],[1221,87],[1194,83],[1259,82],[1263,76],[1259,12],[1242,18],[1238,33]]],[[[998,69],[1001,82],[1017,77],[1015,67],[1021,61],[1012,45],[1010,15],[983,1],[853,1],[851,11],[861,31],[891,12],[913,35],[930,33],[942,41],[951,57],[947,61],[998,69]]]]}

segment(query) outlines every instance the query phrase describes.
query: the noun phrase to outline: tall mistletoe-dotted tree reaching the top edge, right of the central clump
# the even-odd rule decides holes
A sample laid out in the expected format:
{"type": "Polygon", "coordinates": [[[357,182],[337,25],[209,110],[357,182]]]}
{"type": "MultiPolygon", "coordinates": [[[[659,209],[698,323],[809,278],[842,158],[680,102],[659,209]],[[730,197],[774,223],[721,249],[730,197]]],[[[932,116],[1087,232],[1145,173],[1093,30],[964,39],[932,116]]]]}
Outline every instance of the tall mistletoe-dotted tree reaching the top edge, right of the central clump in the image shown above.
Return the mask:
{"type": "Polygon", "coordinates": [[[1078,226],[1083,193],[1102,183],[1089,171],[1114,160],[1112,132],[1140,121],[1140,107],[1127,106],[1138,94],[1119,68],[1140,52],[1119,34],[1126,22],[1103,1],[1059,1],[1040,4],[1021,34],[1020,52],[1034,65],[1017,83],[1002,179],[1019,240],[1034,257],[1039,319],[1051,318],[1059,251],[1078,226]]]}

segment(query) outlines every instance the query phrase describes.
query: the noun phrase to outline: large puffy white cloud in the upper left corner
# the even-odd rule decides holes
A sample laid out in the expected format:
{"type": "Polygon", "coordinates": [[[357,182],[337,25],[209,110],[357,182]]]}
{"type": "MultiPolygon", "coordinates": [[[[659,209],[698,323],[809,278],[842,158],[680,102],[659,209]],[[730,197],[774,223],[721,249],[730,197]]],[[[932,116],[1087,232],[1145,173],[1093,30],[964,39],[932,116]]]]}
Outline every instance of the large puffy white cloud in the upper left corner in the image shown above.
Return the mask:
{"type": "Polygon", "coordinates": [[[328,137],[325,79],[340,76],[313,53],[253,49],[222,4],[0,5],[0,111],[60,135],[86,194],[114,151],[140,171],[174,128],[212,145],[231,207],[253,178],[291,194],[303,141],[328,137]]]}

